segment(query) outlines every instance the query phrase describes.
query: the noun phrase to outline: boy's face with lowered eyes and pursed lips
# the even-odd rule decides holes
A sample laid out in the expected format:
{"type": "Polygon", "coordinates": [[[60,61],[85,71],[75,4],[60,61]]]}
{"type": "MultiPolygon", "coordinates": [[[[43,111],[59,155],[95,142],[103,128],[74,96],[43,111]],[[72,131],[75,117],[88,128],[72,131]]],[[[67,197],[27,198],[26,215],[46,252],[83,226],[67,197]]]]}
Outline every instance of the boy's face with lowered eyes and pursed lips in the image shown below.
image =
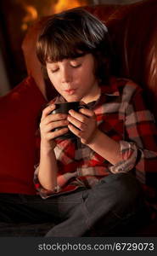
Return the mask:
{"type": "Polygon", "coordinates": [[[94,76],[92,54],[76,59],[47,62],[48,77],[67,102],[92,102],[98,96],[98,81],[94,76]]]}

